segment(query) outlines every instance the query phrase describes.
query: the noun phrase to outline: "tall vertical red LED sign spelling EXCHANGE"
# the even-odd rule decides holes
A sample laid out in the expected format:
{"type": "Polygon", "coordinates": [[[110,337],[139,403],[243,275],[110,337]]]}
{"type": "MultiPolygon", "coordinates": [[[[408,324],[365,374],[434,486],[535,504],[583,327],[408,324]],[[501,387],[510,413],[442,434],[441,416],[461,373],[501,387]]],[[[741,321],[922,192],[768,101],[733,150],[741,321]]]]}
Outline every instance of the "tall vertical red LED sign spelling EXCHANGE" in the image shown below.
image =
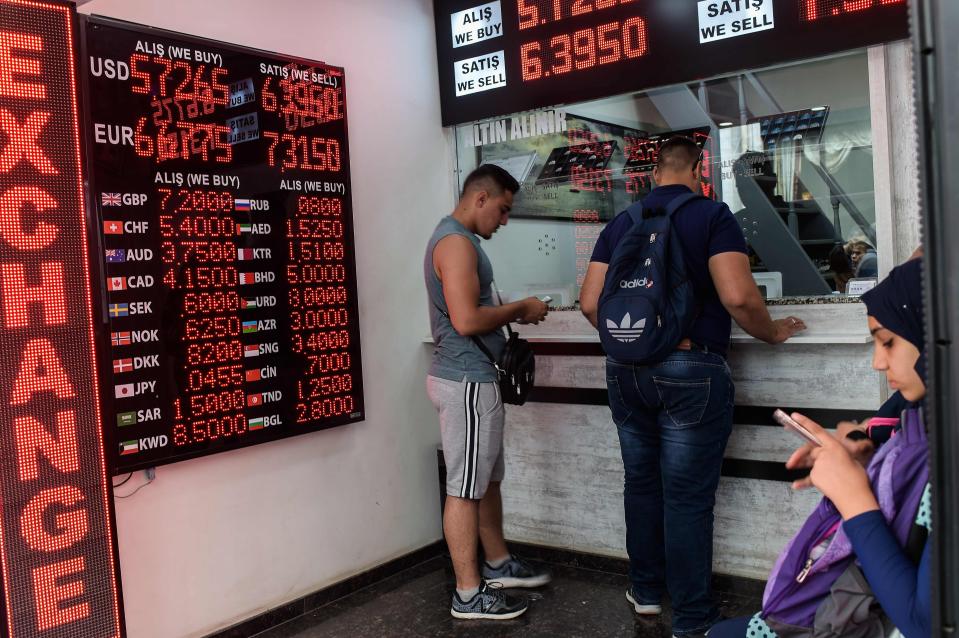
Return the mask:
{"type": "Polygon", "coordinates": [[[0,0],[0,634],[121,621],[94,354],[76,15],[0,0]]]}

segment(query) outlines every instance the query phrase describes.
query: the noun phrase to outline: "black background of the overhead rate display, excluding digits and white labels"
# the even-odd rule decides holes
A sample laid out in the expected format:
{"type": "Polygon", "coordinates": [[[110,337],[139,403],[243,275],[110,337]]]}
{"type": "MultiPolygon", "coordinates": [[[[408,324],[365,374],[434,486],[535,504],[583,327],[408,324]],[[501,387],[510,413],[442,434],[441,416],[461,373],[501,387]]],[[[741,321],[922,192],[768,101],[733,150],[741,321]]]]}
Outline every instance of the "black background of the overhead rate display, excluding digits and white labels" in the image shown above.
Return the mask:
{"type": "MultiPolygon", "coordinates": [[[[535,0],[530,0],[534,2],[535,0]]],[[[540,0],[541,2],[543,0],[540,0]]],[[[503,35],[454,48],[451,14],[483,5],[482,0],[434,0],[440,106],[444,126],[546,106],[575,104],[630,91],[692,82],[796,60],[823,57],[909,37],[908,4],[877,5],[868,13],[822,16],[804,22],[803,0],[775,2],[775,28],[700,44],[696,0],[642,0],[574,18],[519,30],[515,0],[501,0],[503,35]],[[642,16],[648,25],[649,51],[632,61],[595,66],[532,84],[522,80],[522,43],[549,42],[614,20],[642,16]],[[456,97],[454,63],[503,50],[506,87],[456,97]]]]}

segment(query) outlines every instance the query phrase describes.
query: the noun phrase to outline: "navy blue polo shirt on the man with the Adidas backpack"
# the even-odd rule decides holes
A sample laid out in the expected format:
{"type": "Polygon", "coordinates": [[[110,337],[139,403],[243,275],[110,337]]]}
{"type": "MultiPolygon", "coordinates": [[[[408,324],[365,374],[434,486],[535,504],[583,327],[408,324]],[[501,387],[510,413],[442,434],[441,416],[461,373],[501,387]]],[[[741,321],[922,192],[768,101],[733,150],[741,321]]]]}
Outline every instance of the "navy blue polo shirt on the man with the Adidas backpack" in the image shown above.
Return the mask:
{"type": "MultiPolygon", "coordinates": [[[[689,192],[689,188],[678,184],[660,186],[643,199],[643,206],[648,210],[665,208],[673,198],[689,192]]],[[[617,215],[600,233],[590,261],[608,264],[616,245],[632,225],[633,219],[625,211],[617,215]]],[[[729,252],[748,254],[743,231],[726,204],[696,199],[673,215],[673,232],[683,247],[686,273],[693,282],[696,299],[702,304],[702,312],[687,336],[710,352],[726,356],[732,319],[719,301],[709,274],[709,258],[729,252]]]]}

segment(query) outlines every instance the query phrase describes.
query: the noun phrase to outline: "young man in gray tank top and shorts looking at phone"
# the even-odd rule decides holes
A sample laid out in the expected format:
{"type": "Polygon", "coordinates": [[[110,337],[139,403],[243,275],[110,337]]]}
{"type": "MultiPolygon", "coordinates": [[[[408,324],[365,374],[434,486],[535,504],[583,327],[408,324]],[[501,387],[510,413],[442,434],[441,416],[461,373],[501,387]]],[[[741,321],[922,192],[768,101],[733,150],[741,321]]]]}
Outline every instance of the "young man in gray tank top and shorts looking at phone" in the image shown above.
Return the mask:
{"type": "Polygon", "coordinates": [[[525,599],[502,588],[539,587],[549,575],[511,556],[503,539],[503,422],[496,370],[473,337],[499,357],[508,322],[539,323],[547,306],[535,297],[493,302],[493,268],[477,235],[489,239],[505,226],[519,184],[498,166],[470,173],[453,214],[430,238],[423,275],[430,301],[433,362],[426,387],[439,412],[446,460],[443,532],[453,559],[456,618],[515,618],[525,599]],[[485,562],[480,570],[478,542],[485,562]]]}

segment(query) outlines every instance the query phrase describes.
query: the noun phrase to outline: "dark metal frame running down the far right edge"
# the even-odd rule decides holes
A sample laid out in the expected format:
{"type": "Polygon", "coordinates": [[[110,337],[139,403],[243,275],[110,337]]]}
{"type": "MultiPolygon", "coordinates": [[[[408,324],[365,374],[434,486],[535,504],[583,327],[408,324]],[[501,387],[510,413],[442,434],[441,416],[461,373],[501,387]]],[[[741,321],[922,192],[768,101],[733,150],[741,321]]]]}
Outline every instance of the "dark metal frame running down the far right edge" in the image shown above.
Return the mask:
{"type": "Polygon", "coordinates": [[[919,117],[933,470],[933,636],[959,610],[959,2],[910,0],[919,117]]]}

